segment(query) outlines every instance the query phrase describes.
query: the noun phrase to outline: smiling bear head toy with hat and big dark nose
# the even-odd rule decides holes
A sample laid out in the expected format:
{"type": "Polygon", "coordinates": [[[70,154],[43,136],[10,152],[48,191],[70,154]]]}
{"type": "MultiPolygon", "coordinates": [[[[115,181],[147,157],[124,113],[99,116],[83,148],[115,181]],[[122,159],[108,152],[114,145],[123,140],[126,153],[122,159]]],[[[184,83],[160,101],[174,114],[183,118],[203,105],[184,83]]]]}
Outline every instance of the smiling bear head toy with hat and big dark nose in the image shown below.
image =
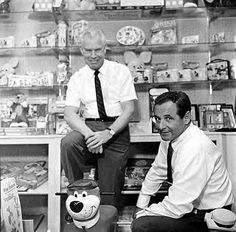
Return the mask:
{"type": "Polygon", "coordinates": [[[81,179],[67,186],[66,209],[76,227],[89,229],[100,218],[100,190],[94,180],[81,179]]]}

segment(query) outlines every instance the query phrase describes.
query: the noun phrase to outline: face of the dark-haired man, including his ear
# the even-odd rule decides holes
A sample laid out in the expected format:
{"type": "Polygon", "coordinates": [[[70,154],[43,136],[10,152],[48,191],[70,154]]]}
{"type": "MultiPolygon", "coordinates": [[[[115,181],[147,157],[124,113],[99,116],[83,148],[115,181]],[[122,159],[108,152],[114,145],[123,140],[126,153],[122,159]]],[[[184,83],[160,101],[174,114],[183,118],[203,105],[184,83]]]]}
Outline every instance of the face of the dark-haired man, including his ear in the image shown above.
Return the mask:
{"type": "Polygon", "coordinates": [[[174,140],[179,137],[190,122],[189,112],[181,119],[177,114],[176,104],[171,101],[156,105],[154,115],[161,138],[164,141],[174,140]]]}

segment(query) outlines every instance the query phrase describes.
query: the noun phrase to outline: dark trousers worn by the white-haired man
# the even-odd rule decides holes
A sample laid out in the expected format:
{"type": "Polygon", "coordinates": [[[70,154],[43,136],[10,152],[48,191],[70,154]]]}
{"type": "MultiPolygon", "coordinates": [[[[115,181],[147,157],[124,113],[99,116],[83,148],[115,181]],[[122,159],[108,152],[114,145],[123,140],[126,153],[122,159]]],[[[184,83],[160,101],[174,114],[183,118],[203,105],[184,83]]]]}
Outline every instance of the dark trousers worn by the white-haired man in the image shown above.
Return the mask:
{"type": "MultiPolygon", "coordinates": [[[[93,131],[102,131],[112,122],[86,121],[93,131]]],[[[127,163],[130,136],[128,126],[103,144],[102,154],[88,151],[84,136],[72,131],[61,141],[61,161],[69,182],[83,178],[88,165],[96,164],[101,204],[120,207],[120,195],[124,185],[124,172],[127,163]]]]}

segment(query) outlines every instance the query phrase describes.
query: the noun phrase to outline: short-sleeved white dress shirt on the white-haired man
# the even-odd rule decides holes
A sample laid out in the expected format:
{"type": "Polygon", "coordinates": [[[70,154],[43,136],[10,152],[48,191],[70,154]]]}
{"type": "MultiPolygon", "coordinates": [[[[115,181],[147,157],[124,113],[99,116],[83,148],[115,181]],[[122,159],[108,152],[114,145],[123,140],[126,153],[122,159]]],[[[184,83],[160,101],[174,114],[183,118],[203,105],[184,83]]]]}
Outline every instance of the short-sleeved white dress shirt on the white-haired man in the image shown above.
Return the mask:
{"type": "MultiPolygon", "coordinates": [[[[122,113],[121,102],[137,99],[133,78],[127,66],[104,60],[98,75],[103,93],[106,114],[109,117],[122,113]]],[[[94,70],[85,65],[68,83],[66,106],[85,107],[86,118],[99,118],[94,84],[94,70]]]]}

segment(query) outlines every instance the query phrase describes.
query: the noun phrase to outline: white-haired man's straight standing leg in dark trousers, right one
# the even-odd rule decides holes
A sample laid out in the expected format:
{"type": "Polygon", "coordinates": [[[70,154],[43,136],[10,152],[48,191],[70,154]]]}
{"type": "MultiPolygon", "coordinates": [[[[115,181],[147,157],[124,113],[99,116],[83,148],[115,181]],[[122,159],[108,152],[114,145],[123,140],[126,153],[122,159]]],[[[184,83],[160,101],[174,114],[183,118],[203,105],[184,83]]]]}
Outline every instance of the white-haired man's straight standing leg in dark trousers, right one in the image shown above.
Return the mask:
{"type": "Polygon", "coordinates": [[[104,145],[104,154],[98,159],[98,182],[101,204],[121,207],[121,190],[129,151],[129,130],[126,128],[104,145]]]}

